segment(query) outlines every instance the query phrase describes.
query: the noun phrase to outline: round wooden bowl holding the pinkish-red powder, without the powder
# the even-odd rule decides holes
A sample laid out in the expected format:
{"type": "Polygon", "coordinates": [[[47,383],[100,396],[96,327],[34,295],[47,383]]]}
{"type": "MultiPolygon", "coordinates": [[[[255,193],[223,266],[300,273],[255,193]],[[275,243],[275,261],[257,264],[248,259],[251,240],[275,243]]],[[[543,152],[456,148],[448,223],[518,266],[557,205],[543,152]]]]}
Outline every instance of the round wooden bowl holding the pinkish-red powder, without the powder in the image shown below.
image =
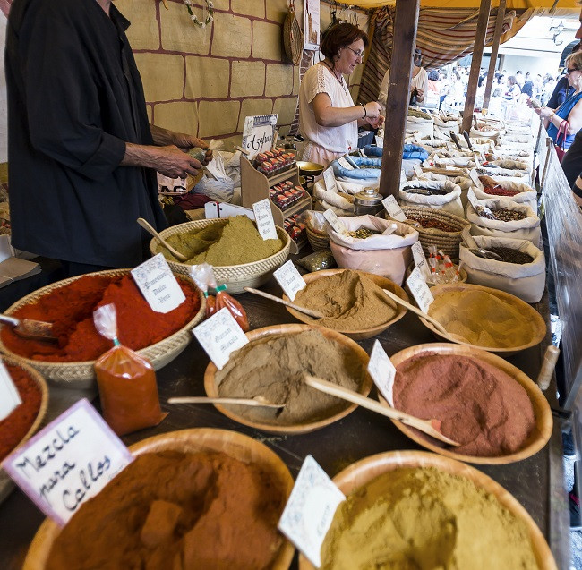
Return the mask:
{"type": "MultiPolygon", "coordinates": [[[[502,465],[512,464],[521,461],[522,459],[526,459],[527,457],[531,457],[542,449],[542,447],[548,442],[552,435],[553,427],[550,404],[548,404],[547,399],[543,396],[542,390],[537,387],[535,382],[524,374],[524,372],[513,366],[513,364],[509,364],[509,362],[502,359],[500,356],[496,356],[495,354],[488,353],[484,350],[475,350],[475,348],[470,348],[469,346],[449,345],[448,343],[410,346],[409,348],[405,348],[399,353],[390,356],[390,360],[394,366],[398,366],[398,364],[407,361],[409,358],[422,353],[467,356],[468,358],[487,362],[498,370],[505,372],[526,390],[527,396],[529,396],[532,407],[534,408],[535,428],[532,430],[532,433],[529,434],[524,446],[519,449],[519,451],[508,455],[498,455],[496,457],[482,457],[478,455],[463,455],[456,453],[454,447],[446,447],[446,444],[441,444],[441,442],[427,436],[423,432],[415,430],[415,428],[411,428],[401,421],[392,420],[398,430],[402,431],[402,433],[404,433],[408,438],[413,439],[419,446],[426,447],[426,449],[430,449],[440,455],[446,455],[452,459],[466,461],[471,464],[502,465]]],[[[388,402],[386,402],[381,395],[379,397],[381,404],[388,405],[388,402]]],[[[437,418],[437,420],[438,419],[439,418],[437,418]]]]}

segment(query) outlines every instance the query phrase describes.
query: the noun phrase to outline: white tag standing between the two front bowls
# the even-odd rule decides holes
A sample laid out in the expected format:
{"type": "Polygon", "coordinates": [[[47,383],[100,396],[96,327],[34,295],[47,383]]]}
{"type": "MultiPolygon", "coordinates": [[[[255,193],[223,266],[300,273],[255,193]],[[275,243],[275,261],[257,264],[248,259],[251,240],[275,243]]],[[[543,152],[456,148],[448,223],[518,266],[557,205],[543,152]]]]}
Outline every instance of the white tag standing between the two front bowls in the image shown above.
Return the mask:
{"type": "Polygon", "coordinates": [[[338,505],[345,500],[312,455],[307,455],[278,521],[278,530],[317,568],[321,566],[323,539],[338,505]]]}

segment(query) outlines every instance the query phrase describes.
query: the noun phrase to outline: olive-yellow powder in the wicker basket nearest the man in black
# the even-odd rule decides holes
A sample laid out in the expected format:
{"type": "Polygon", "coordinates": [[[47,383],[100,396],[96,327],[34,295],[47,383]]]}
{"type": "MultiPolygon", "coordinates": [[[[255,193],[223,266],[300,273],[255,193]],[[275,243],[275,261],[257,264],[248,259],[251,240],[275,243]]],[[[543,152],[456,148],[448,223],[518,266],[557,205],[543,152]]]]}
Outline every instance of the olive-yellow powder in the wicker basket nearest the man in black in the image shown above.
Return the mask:
{"type": "MultiPolygon", "coordinates": [[[[246,216],[229,217],[184,234],[167,236],[167,242],[188,260],[188,265],[210,263],[214,267],[242,265],[269,258],[283,248],[279,239],[263,240],[246,216]]],[[[170,261],[177,261],[164,246],[159,250],[170,261]]]]}

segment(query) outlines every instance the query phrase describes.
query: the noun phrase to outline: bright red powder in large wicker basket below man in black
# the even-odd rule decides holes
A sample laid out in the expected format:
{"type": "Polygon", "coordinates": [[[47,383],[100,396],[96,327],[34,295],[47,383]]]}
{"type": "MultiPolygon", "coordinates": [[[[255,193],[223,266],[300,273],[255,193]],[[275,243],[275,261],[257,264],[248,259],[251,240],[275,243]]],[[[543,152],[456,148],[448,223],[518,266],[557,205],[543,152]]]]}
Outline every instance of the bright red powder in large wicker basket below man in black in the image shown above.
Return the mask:
{"type": "Polygon", "coordinates": [[[44,295],[39,302],[14,311],[20,319],[54,323],[57,343],[22,338],[12,328],[0,335],[6,348],[26,358],[47,362],[84,362],[97,359],[111,348],[111,341],[98,334],[93,311],[102,305],[116,305],[119,342],[140,350],[173,335],[200,309],[197,289],[178,278],[185,301],[174,311],[152,311],[133,277],[83,276],[70,285],[44,295]]]}

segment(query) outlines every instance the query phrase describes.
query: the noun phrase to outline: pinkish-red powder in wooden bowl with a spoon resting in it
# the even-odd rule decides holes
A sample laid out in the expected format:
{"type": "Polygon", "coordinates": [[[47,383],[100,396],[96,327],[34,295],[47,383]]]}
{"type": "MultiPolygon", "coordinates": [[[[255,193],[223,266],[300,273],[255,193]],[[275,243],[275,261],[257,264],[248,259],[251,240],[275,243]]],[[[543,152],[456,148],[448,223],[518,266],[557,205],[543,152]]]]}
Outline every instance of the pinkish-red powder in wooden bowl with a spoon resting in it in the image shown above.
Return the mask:
{"type": "Polygon", "coordinates": [[[508,455],[524,447],[535,427],[526,389],[488,362],[423,353],[396,370],[395,407],[424,420],[441,420],[442,433],[461,444],[451,451],[508,455]]]}

